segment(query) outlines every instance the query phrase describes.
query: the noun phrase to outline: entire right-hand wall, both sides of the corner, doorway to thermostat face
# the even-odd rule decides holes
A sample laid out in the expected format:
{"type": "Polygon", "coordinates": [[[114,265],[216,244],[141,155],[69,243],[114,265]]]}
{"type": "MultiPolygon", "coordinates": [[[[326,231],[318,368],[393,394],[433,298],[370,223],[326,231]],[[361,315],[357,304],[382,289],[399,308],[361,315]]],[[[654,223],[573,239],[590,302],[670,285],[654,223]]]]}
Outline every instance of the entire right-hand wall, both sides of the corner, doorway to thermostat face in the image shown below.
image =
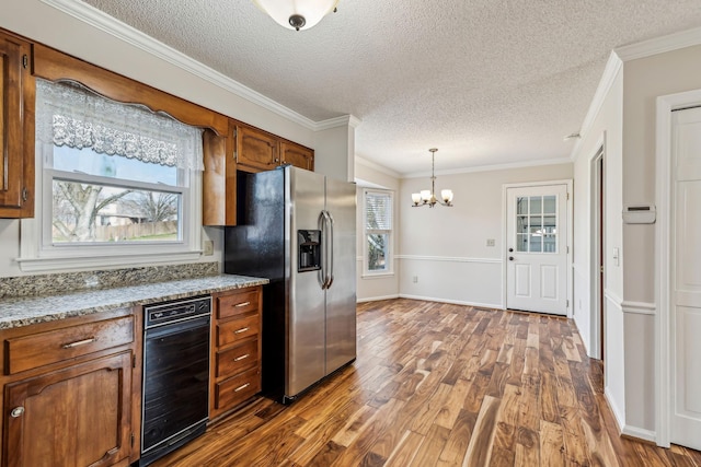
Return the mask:
{"type": "Polygon", "coordinates": [[[701,46],[624,62],[575,154],[575,320],[590,351],[596,345],[589,301],[590,159],[604,141],[606,394],[623,433],[653,441],[659,352],[655,225],[624,224],[621,212],[627,205],[656,202],[656,98],[699,89],[701,46]],[[613,262],[613,247],[622,248],[620,266],[613,262]]]}

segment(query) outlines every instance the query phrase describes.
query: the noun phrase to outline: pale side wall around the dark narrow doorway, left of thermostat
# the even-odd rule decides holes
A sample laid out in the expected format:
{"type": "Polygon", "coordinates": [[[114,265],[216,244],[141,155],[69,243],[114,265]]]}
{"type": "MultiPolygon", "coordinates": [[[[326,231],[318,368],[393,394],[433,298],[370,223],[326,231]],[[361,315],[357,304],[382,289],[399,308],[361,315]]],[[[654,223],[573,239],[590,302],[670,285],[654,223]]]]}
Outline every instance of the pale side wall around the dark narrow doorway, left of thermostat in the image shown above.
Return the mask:
{"type": "MultiPolygon", "coordinates": [[[[574,163],[574,319],[589,354],[598,355],[596,297],[594,176],[593,160],[604,147],[605,160],[605,389],[609,405],[619,422],[625,420],[625,349],[623,296],[623,268],[613,260],[613,248],[622,247],[622,153],[623,153],[623,71],[614,58],[618,72],[596,113],[587,132],[577,147],[574,163]]],[[[623,424],[623,423],[621,423],[623,424]]]]}

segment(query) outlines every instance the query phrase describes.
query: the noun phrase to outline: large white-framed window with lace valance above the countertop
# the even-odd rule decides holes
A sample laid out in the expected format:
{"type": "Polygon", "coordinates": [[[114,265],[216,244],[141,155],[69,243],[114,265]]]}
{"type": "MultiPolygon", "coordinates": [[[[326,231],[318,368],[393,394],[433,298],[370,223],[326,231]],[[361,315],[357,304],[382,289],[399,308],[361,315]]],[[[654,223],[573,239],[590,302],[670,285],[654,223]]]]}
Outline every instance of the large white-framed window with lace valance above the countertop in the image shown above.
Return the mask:
{"type": "Polygon", "coordinates": [[[22,268],[197,257],[202,130],[76,83],[36,82],[41,202],[22,268]],[[59,265],[33,267],[43,260],[59,265]]]}

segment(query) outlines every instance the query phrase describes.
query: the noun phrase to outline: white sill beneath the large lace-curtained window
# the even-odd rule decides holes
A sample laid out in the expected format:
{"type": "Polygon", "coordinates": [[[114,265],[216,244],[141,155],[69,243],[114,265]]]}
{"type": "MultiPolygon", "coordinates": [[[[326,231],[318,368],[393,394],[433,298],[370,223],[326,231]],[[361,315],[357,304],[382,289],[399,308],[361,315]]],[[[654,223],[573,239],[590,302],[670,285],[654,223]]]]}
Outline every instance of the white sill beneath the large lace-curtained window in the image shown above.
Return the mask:
{"type": "Polygon", "coordinates": [[[66,258],[16,258],[24,272],[66,271],[124,266],[187,262],[199,259],[202,252],[146,253],[110,256],[71,256],[66,258]]]}

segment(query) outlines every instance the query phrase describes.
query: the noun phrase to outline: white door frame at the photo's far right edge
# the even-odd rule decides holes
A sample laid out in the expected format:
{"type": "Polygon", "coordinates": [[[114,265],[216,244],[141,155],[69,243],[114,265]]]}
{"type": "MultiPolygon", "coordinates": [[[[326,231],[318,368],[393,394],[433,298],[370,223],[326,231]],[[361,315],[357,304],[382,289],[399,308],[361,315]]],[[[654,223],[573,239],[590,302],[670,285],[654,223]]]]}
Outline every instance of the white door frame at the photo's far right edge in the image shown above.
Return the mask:
{"type": "Polygon", "coordinates": [[[671,184],[671,112],[686,107],[701,106],[701,90],[688,91],[677,94],[662,95],[656,103],[656,148],[655,170],[657,177],[656,203],[657,222],[655,223],[655,257],[657,270],[655,271],[655,434],[658,446],[669,447],[670,444],[670,415],[671,415],[671,349],[673,328],[670,326],[671,313],[671,266],[673,266],[673,233],[670,212],[673,201],[671,184]]]}

